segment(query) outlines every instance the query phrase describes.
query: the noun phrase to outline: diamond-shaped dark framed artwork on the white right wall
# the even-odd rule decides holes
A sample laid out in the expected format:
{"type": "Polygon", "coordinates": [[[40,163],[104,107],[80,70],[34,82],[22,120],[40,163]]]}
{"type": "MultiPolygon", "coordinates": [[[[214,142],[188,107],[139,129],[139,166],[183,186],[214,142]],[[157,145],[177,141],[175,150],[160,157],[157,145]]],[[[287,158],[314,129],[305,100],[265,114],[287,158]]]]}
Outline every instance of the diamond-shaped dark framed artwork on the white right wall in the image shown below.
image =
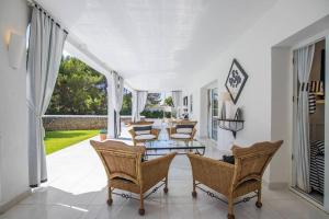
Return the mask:
{"type": "Polygon", "coordinates": [[[225,82],[225,87],[231,97],[231,101],[237,104],[242,89],[248,79],[248,74],[240,66],[240,64],[234,59],[225,82]]]}

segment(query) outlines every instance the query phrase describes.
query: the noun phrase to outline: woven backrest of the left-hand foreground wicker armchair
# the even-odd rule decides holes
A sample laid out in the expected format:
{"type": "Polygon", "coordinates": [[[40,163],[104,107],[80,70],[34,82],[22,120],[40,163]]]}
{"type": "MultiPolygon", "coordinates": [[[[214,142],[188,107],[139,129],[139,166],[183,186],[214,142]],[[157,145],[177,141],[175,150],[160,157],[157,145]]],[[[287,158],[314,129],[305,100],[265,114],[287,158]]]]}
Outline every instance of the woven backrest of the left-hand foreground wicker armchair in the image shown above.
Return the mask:
{"type": "Polygon", "coordinates": [[[102,160],[109,178],[122,177],[138,184],[145,148],[113,140],[103,142],[91,140],[90,143],[102,160]]]}

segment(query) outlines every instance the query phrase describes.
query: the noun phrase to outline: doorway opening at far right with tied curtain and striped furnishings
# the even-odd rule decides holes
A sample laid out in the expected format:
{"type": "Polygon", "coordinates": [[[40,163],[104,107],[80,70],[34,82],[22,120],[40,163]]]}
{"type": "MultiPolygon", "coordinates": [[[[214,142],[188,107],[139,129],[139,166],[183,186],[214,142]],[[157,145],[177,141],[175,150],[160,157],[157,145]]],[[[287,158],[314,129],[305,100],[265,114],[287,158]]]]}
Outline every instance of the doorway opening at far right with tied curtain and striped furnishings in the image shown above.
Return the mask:
{"type": "MultiPolygon", "coordinates": [[[[326,39],[297,48],[294,57],[293,188],[324,205],[326,39]],[[303,50],[304,49],[304,50],[303,50]],[[306,51],[306,53],[304,53],[306,51]],[[309,57],[309,76],[300,73],[309,57]],[[306,78],[305,78],[306,77],[306,78]]],[[[306,72],[306,71],[305,71],[306,72]]]]}

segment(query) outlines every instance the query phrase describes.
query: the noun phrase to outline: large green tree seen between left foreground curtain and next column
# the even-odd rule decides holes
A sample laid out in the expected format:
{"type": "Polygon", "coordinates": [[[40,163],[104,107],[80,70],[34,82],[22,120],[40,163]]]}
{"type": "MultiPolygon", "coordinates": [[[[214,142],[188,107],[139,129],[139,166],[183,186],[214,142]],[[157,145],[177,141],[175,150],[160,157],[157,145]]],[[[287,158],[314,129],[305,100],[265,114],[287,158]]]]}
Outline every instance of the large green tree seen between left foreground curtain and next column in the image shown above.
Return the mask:
{"type": "Polygon", "coordinates": [[[46,114],[106,115],[106,79],[72,57],[61,59],[46,114]]]}

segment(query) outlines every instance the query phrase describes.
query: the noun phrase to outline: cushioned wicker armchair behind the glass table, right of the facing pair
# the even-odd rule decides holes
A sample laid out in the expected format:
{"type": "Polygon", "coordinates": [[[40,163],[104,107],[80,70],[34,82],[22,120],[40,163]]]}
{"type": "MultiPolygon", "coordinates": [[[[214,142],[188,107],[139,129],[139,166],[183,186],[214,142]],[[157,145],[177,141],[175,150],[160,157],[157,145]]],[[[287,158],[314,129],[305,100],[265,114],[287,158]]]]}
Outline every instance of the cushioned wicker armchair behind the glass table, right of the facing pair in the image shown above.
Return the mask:
{"type": "Polygon", "coordinates": [[[186,145],[189,142],[193,142],[193,139],[196,134],[196,125],[197,122],[182,120],[178,123],[174,127],[167,128],[167,132],[169,139],[171,140],[181,140],[186,145]]]}

